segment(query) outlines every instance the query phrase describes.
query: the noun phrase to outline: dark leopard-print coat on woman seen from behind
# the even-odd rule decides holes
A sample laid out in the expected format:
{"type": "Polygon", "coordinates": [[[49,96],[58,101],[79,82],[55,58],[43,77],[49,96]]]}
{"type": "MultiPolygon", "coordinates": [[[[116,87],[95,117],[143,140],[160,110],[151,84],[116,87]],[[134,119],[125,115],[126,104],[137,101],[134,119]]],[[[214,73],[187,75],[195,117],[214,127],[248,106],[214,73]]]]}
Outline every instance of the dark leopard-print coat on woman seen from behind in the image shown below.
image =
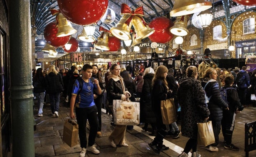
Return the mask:
{"type": "Polygon", "coordinates": [[[194,77],[187,77],[179,80],[178,84],[182,135],[197,139],[197,123],[210,115],[201,82],[194,77]]]}

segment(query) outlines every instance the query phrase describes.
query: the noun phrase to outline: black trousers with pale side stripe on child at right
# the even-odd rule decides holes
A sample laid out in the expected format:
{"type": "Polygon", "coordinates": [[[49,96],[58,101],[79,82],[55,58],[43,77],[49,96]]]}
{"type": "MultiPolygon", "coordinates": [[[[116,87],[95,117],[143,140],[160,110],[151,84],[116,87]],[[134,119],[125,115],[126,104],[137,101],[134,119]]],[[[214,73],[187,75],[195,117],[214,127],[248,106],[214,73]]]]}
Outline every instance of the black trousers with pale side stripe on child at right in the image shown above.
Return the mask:
{"type": "Polygon", "coordinates": [[[223,110],[222,134],[227,145],[230,145],[232,142],[232,134],[235,128],[235,115],[234,111],[223,110]]]}

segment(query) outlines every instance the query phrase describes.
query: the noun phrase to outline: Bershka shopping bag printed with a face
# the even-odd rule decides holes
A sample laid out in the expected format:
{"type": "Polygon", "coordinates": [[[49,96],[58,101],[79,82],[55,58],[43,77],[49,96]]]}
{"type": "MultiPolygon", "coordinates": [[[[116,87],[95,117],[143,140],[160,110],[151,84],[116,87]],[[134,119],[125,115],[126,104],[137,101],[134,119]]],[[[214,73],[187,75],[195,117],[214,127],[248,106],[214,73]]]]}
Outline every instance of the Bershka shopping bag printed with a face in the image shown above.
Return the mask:
{"type": "Polygon", "coordinates": [[[139,102],[113,100],[114,124],[138,125],[139,102]]]}

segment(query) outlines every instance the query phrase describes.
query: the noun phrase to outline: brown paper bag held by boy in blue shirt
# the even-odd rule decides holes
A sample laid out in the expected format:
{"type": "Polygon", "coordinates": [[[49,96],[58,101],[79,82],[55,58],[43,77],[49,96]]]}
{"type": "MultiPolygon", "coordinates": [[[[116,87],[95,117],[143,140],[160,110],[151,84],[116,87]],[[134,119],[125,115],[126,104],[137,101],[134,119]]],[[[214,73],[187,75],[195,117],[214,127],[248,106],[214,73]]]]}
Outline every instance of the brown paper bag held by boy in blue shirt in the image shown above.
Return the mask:
{"type": "Polygon", "coordinates": [[[78,143],[78,124],[71,119],[66,120],[63,128],[63,141],[73,147],[78,143]]]}

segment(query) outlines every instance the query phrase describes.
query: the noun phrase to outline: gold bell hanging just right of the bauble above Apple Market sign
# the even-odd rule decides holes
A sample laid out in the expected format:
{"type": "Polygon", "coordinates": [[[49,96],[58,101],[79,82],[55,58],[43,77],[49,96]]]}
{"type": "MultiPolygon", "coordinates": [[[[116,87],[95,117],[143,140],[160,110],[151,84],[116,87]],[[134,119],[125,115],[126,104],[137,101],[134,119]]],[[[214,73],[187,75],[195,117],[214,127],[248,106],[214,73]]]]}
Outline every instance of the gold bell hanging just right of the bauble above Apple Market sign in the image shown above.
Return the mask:
{"type": "Polygon", "coordinates": [[[188,15],[178,16],[173,27],[170,28],[170,32],[174,35],[185,36],[188,33],[187,30],[187,17],[188,15]]]}

